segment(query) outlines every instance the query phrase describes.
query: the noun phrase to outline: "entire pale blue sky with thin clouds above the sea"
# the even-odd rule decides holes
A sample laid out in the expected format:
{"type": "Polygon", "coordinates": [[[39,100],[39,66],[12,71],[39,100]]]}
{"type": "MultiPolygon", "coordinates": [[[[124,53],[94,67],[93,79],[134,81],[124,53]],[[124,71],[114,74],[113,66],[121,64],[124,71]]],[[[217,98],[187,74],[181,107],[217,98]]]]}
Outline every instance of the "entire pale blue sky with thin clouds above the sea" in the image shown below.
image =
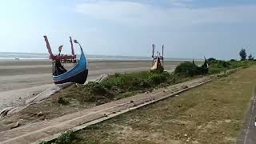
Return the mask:
{"type": "Polygon", "coordinates": [[[8,0],[0,18],[7,52],[46,53],[46,34],[64,53],[72,36],[86,54],[149,56],[153,42],[172,58],[256,54],[255,0],[8,0]]]}

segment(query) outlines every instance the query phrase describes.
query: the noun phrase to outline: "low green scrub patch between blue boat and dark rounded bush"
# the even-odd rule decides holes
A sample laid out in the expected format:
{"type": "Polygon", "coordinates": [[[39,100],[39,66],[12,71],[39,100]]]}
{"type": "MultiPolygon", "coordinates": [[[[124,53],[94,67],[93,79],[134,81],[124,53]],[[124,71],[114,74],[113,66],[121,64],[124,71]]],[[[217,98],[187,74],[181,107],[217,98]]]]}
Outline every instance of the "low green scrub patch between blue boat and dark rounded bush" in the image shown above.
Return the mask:
{"type": "Polygon", "coordinates": [[[88,82],[86,85],[74,85],[80,102],[102,104],[114,99],[151,91],[162,86],[170,86],[185,81],[182,74],[170,74],[166,71],[142,71],[129,74],[114,74],[102,82],[88,82]]]}

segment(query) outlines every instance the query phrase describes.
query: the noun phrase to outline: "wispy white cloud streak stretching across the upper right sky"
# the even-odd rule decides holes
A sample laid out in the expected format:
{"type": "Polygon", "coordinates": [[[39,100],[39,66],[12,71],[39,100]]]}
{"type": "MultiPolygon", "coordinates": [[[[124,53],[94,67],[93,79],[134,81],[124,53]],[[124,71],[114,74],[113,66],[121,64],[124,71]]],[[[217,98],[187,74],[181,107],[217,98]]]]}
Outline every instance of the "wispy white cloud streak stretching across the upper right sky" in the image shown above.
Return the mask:
{"type": "Polygon", "coordinates": [[[256,5],[192,9],[186,7],[184,3],[190,1],[173,0],[176,7],[168,8],[138,2],[94,1],[78,4],[75,11],[90,18],[132,26],[191,26],[205,23],[254,21],[256,19],[256,5]]]}

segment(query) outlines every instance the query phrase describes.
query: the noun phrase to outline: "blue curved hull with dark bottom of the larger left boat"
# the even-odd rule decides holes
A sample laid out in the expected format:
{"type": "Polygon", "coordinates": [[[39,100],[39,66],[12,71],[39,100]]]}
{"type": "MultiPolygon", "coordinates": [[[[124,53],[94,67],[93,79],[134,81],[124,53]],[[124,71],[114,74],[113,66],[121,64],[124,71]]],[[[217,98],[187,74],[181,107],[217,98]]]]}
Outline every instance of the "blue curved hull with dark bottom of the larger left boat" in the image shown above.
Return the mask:
{"type": "Polygon", "coordinates": [[[68,70],[64,74],[60,75],[53,75],[53,81],[55,84],[62,84],[66,82],[75,82],[83,84],[86,82],[87,76],[88,76],[88,69],[87,69],[87,60],[86,56],[83,53],[82,47],[81,48],[81,57],[79,59],[79,62],[76,66],[74,66],[73,69],[68,70]]]}

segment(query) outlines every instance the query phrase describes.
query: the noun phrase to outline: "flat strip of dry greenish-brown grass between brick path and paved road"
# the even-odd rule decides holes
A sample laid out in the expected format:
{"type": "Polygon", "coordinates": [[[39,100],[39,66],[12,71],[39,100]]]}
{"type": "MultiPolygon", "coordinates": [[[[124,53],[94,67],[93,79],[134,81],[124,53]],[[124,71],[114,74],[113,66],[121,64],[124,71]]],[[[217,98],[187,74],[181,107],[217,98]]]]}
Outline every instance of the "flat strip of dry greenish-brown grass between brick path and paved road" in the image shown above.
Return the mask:
{"type": "Polygon", "coordinates": [[[77,143],[234,143],[256,86],[256,66],[179,97],[88,126],[77,143]]]}

